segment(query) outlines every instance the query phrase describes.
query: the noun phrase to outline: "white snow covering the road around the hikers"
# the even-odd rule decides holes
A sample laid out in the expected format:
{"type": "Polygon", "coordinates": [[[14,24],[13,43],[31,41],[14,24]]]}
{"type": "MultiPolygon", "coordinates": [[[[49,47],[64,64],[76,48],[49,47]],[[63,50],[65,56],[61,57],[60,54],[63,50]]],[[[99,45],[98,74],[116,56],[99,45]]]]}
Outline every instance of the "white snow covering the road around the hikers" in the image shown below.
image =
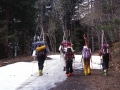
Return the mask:
{"type": "MultiPolygon", "coordinates": [[[[49,55],[43,76],[38,76],[38,63],[18,62],[0,67],[0,90],[48,90],[67,79],[60,55],[49,55]]],[[[92,56],[91,69],[101,69],[99,56],[92,56]]],[[[81,55],[75,55],[74,69],[81,70],[81,55]]]]}

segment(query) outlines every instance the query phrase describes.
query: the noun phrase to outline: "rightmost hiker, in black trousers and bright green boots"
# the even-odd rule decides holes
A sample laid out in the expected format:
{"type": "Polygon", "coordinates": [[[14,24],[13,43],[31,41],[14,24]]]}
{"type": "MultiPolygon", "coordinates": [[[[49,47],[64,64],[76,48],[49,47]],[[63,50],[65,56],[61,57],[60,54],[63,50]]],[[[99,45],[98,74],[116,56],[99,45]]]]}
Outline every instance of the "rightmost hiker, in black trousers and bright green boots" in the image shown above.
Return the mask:
{"type": "Polygon", "coordinates": [[[99,55],[102,56],[103,75],[107,76],[109,68],[110,51],[107,43],[101,45],[99,55]]]}

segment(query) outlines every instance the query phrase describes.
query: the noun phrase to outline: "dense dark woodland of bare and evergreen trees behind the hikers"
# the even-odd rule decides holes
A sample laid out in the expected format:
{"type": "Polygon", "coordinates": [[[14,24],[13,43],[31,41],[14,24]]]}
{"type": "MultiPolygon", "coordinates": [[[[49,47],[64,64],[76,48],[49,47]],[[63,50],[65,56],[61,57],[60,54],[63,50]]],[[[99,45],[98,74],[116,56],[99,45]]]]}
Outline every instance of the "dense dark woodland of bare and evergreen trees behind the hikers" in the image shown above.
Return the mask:
{"type": "Polygon", "coordinates": [[[92,52],[120,41],[120,0],[0,0],[0,59],[31,55],[42,30],[50,52],[65,39],[80,52],[87,34],[92,52]],[[68,39],[68,37],[70,39],[68,39]]]}

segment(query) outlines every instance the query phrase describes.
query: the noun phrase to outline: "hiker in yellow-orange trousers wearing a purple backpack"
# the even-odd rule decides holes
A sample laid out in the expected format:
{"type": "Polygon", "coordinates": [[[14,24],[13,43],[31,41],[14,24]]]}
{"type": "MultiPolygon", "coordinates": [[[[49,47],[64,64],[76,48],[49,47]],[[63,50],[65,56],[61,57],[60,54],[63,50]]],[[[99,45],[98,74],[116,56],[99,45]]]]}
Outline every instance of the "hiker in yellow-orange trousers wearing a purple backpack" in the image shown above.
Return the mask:
{"type": "Polygon", "coordinates": [[[88,46],[83,46],[82,58],[84,63],[84,75],[91,75],[90,69],[90,59],[91,59],[91,49],[88,46]]]}

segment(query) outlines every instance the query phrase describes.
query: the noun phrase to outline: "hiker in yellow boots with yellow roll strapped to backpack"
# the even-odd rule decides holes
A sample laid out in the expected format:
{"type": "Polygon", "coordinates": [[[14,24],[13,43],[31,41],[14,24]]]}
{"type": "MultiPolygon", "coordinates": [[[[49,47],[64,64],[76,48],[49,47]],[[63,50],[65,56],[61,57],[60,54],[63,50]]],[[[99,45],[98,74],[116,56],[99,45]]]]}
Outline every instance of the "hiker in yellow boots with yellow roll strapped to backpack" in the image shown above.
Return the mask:
{"type": "Polygon", "coordinates": [[[48,51],[47,51],[45,45],[41,44],[41,45],[37,46],[36,55],[37,55],[37,60],[38,60],[39,76],[43,75],[42,72],[43,72],[45,59],[47,58],[47,53],[48,53],[48,51]]]}

